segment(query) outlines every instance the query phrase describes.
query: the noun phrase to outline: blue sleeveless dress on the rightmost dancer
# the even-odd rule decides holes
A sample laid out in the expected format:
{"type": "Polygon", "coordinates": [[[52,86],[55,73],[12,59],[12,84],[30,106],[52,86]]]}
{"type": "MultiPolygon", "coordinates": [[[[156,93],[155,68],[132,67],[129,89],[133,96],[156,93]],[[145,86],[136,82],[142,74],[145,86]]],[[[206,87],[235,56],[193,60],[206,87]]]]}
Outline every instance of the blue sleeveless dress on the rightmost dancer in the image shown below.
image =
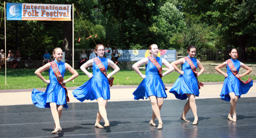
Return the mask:
{"type": "MultiPolygon", "coordinates": [[[[237,72],[239,72],[241,62],[239,60],[233,60],[232,58],[231,61],[233,62],[233,65],[236,68],[237,72]]],[[[221,90],[220,97],[222,100],[230,101],[230,92],[233,92],[235,95],[238,96],[238,98],[240,98],[242,94],[246,94],[249,91],[250,87],[253,86],[253,80],[246,84],[238,80],[238,78],[234,76],[228,65],[226,66],[226,70],[228,73],[228,77],[225,78],[221,90]]]]}

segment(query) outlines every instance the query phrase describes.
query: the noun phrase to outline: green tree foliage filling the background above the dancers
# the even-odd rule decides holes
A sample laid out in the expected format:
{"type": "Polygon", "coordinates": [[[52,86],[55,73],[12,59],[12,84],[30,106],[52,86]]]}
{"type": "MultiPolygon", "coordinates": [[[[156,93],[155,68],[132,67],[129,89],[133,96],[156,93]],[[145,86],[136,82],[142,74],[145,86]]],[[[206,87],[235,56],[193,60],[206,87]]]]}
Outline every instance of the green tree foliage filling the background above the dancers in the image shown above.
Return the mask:
{"type": "MultiPolygon", "coordinates": [[[[19,0],[19,3],[75,5],[75,48],[97,43],[120,49],[160,48],[253,49],[256,40],[255,0],[19,0]],[[92,38],[86,39],[92,35],[92,38]],[[97,37],[94,37],[96,36],[97,37]],[[80,41],[78,41],[80,38],[80,41]]],[[[3,5],[3,2],[0,2],[3,5]]],[[[0,7],[1,15],[3,6],[0,7]]],[[[4,49],[3,18],[0,48],[4,49]]],[[[45,49],[63,47],[72,30],[67,22],[6,21],[7,50],[42,58],[45,49]],[[17,36],[17,37],[16,37],[17,36]],[[17,39],[16,39],[17,38],[17,39]]],[[[72,40],[68,41],[72,44],[72,40]]],[[[69,47],[71,48],[71,47],[69,47]]]]}

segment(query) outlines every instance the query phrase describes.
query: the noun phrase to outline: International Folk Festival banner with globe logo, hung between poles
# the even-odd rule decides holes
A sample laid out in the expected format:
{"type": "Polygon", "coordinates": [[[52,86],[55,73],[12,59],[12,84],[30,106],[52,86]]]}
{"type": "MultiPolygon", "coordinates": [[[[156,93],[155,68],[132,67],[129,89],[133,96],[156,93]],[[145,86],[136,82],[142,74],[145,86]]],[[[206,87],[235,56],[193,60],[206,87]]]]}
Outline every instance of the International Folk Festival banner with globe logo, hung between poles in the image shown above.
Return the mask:
{"type": "Polygon", "coordinates": [[[7,20],[70,21],[72,5],[7,3],[7,20]]]}

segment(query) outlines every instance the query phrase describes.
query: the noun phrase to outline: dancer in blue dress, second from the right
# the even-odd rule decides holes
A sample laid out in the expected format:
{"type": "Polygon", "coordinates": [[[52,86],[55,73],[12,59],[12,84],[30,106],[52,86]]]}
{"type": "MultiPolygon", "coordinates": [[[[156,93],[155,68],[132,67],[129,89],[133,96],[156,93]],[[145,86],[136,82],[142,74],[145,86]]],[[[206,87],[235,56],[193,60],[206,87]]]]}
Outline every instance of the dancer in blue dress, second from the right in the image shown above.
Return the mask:
{"type": "Polygon", "coordinates": [[[193,115],[194,115],[194,122],[193,124],[198,123],[198,116],[197,116],[197,108],[196,108],[196,99],[195,97],[199,97],[199,82],[197,81],[197,77],[204,73],[204,67],[199,60],[195,58],[196,56],[196,47],[190,45],[187,49],[188,56],[184,58],[180,58],[177,61],[171,63],[174,66],[174,69],[180,73],[179,78],[175,81],[170,93],[173,93],[177,99],[187,99],[187,103],[185,103],[184,110],[182,115],[180,116],[181,120],[185,122],[190,122],[185,118],[189,109],[191,108],[193,115]],[[188,62],[192,61],[192,62],[188,62]],[[193,72],[191,65],[195,66],[195,69],[198,67],[200,72],[193,72]],[[177,65],[181,65],[182,71],[177,68],[177,65]]]}

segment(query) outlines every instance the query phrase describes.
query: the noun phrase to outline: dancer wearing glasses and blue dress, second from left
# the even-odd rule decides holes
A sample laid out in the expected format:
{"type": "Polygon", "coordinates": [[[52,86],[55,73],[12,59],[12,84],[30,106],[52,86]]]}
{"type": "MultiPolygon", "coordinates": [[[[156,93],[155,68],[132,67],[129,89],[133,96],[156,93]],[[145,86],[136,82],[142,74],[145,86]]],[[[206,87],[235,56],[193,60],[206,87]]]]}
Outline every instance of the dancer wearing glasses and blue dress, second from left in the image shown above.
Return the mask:
{"type": "MultiPolygon", "coordinates": [[[[106,113],[106,104],[110,99],[110,88],[109,88],[108,78],[110,78],[120,70],[118,66],[114,64],[113,61],[103,57],[104,48],[105,48],[104,45],[97,44],[96,47],[94,48],[94,52],[97,54],[97,57],[91,60],[88,60],[87,62],[85,62],[85,64],[83,64],[80,67],[82,72],[84,72],[90,78],[90,80],[88,80],[82,86],[78,87],[76,90],[73,91],[74,97],[78,99],[80,102],[83,102],[85,99],[97,100],[98,112],[97,112],[96,123],[94,125],[97,128],[109,127],[109,120],[106,113]],[[96,58],[97,60],[100,60],[100,62],[102,63],[106,71],[108,69],[108,66],[110,66],[114,69],[113,72],[105,76],[105,74],[101,72],[98,66],[98,63],[95,61],[96,58]],[[89,73],[86,70],[86,68],[88,68],[89,66],[92,66],[93,74],[89,73]],[[104,119],[104,122],[105,122],[104,127],[101,126],[100,124],[100,120],[102,118],[104,119]]],[[[103,66],[101,67],[103,68],[103,66]]]]}

